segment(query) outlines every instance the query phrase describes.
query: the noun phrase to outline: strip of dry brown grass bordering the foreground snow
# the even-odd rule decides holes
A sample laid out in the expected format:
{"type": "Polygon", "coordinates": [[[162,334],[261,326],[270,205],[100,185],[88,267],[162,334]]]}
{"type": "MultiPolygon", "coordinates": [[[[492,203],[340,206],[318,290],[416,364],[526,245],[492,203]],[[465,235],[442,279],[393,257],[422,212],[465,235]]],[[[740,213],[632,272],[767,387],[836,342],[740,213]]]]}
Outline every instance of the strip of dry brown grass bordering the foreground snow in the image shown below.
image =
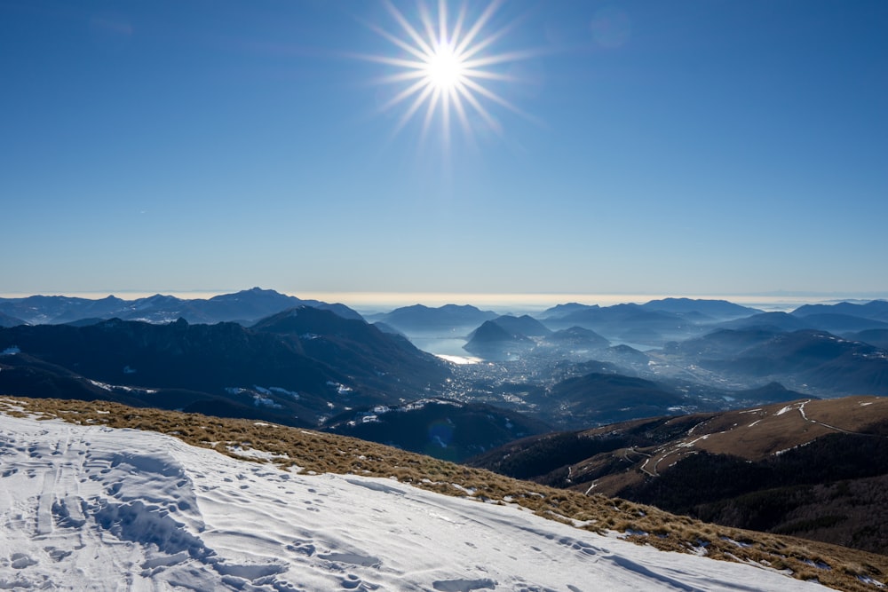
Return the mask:
{"type": "Polygon", "coordinates": [[[125,407],[103,401],[4,398],[0,399],[0,410],[6,414],[58,418],[83,425],[158,431],[236,458],[240,457],[228,446],[253,448],[280,455],[274,463],[281,469],[299,467],[307,474],[331,472],[397,478],[400,482],[448,495],[514,503],[540,516],[579,528],[625,533],[629,541],[638,544],[757,564],[791,573],[801,580],[819,580],[840,590],[874,590],[877,589],[875,585],[860,578],[884,581],[888,577],[886,556],[776,534],[709,525],[631,501],[600,494],[587,496],[519,481],[356,438],[266,422],[125,407]]]}

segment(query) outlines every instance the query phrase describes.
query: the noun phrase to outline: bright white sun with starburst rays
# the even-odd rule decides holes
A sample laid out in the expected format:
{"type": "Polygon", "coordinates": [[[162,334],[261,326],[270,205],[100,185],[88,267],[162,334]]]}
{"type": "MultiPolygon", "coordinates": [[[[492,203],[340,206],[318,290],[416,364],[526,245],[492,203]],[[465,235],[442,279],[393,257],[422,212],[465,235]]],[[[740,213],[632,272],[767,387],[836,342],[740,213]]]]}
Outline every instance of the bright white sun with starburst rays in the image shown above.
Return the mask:
{"type": "Polygon", "coordinates": [[[470,137],[479,124],[502,135],[493,114],[495,107],[534,119],[503,97],[497,88],[521,82],[506,66],[540,53],[491,51],[509,36],[515,25],[513,21],[494,27],[501,1],[493,0],[486,6],[464,1],[456,11],[451,11],[448,0],[438,0],[437,12],[433,13],[427,3],[419,0],[416,13],[408,13],[410,18],[390,0],[384,0],[384,5],[397,25],[396,33],[372,23],[369,27],[392,43],[395,54],[356,57],[389,67],[390,73],[375,82],[392,85],[394,89],[381,111],[403,109],[395,133],[419,117],[423,120],[424,136],[433,122],[440,122],[441,138],[449,145],[454,120],[470,137]]]}

